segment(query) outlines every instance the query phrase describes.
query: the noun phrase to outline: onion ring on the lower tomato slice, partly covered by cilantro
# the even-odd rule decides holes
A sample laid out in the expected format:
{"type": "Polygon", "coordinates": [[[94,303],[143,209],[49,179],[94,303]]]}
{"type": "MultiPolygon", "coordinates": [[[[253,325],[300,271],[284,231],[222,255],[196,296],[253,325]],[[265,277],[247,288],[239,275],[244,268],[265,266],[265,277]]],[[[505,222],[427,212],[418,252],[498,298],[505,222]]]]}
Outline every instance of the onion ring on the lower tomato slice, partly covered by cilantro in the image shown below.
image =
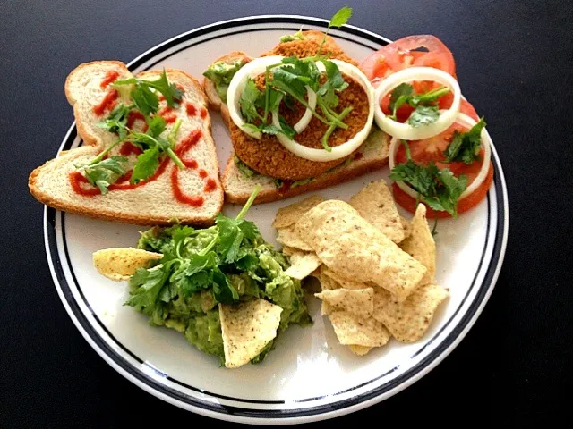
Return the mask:
{"type": "MultiPolygon", "coordinates": [[[[467,116],[466,114],[459,113],[456,117],[456,121],[460,125],[471,129],[477,122],[475,122],[472,118],[467,116]]],[[[460,195],[459,199],[462,200],[469,195],[471,195],[475,189],[478,189],[485,178],[487,177],[487,172],[490,170],[490,161],[492,159],[492,138],[490,134],[483,128],[482,134],[480,135],[482,139],[482,146],[483,146],[483,164],[482,169],[480,170],[479,174],[475,176],[475,180],[472,181],[472,184],[460,195]]],[[[388,156],[388,164],[390,168],[390,172],[396,165],[395,156],[398,150],[398,146],[400,145],[400,139],[398,137],[394,137],[390,140],[389,146],[389,156],[388,156]]],[[[396,184],[400,189],[402,189],[406,194],[408,194],[412,198],[418,198],[418,192],[411,188],[410,186],[406,185],[404,181],[397,181],[396,184]]],[[[420,196],[422,199],[423,197],[420,196]]]]}

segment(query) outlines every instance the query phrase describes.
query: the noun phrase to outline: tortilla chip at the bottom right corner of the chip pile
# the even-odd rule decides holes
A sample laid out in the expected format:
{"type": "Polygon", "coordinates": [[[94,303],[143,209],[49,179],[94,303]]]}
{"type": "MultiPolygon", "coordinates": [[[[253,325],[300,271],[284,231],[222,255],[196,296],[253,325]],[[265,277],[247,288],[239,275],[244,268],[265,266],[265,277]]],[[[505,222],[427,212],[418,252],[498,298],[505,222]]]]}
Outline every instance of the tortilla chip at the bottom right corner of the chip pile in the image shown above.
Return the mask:
{"type": "Polygon", "coordinates": [[[404,302],[387,294],[375,303],[373,317],[398,341],[417,341],[423,337],[436,309],[448,296],[448,291],[437,284],[420,286],[404,302]]]}

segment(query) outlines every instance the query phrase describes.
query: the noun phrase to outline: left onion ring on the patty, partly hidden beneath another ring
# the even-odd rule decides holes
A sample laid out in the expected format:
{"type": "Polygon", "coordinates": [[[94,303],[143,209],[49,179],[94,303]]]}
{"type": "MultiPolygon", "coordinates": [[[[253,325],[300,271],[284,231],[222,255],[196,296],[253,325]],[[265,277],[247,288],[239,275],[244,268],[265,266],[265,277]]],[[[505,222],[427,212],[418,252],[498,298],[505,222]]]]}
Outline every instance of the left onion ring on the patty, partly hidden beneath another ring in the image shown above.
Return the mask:
{"type": "MultiPolygon", "coordinates": [[[[246,122],[244,122],[243,115],[240,114],[241,106],[239,105],[239,101],[241,99],[241,93],[243,92],[248,78],[256,78],[261,73],[264,73],[269,65],[280,63],[283,58],[284,56],[280,55],[255,58],[249,63],[244,64],[243,67],[236,71],[235,76],[233,76],[233,79],[229,83],[229,88],[227,89],[227,108],[229,110],[231,120],[235,122],[235,125],[244,133],[255,139],[261,139],[261,131],[252,131],[248,127],[245,127],[246,122]]],[[[308,104],[312,109],[314,109],[316,107],[316,94],[308,85],[306,86],[306,93],[308,95],[308,104]]],[[[296,122],[294,126],[295,131],[302,132],[308,126],[309,122],[311,122],[311,119],[312,111],[307,108],[300,121],[296,122]]]]}

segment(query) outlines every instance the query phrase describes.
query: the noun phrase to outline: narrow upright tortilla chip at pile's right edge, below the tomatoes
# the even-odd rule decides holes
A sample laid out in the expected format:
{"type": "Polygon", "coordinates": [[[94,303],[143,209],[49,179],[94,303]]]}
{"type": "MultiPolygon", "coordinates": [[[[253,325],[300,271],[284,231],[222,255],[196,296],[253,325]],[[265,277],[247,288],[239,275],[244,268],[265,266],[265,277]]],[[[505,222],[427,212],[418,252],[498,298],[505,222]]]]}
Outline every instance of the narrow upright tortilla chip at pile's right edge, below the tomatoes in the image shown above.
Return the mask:
{"type": "Polygon", "coordinates": [[[434,281],[436,275],[436,242],[426,220],[426,206],[418,204],[412,218],[412,233],[400,243],[400,248],[426,267],[422,284],[434,281]]]}

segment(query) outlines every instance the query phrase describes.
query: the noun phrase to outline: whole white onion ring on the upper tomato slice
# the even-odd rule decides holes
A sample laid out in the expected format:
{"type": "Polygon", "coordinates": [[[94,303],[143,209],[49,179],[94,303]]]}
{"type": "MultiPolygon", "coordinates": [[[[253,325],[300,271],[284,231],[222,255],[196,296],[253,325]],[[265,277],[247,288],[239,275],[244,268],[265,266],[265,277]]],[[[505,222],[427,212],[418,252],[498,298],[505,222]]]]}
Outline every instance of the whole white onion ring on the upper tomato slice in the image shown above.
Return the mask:
{"type": "Polygon", "coordinates": [[[437,136],[440,132],[448,130],[449,126],[456,121],[459,112],[462,92],[459,88],[458,80],[455,80],[449,73],[434,69],[433,67],[410,67],[390,74],[388,78],[381,80],[375,92],[375,118],[376,123],[384,132],[390,136],[405,140],[429,139],[437,136]],[[441,111],[436,122],[415,128],[409,123],[400,123],[391,120],[381,108],[381,98],[401,83],[413,80],[432,80],[448,87],[454,93],[454,100],[451,107],[446,111],[441,111]]]}

